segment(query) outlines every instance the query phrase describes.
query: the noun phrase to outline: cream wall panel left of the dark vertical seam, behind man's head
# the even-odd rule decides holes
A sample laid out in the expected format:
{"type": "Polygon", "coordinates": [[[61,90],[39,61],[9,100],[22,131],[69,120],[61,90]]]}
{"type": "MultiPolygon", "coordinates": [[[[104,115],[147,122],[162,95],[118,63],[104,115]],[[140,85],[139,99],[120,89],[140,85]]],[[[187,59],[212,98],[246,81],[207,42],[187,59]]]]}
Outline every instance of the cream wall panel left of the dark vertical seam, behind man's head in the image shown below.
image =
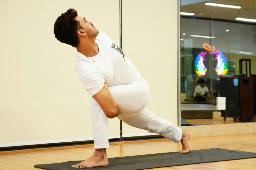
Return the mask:
{"type": "MultiPolygon", "coordinates": [[[[70,7],[119,44],[119,0],[0,2],[0,147],[92,137],[76,49],[53,34],[54,22],[70,7]]],[[[119,135],[118,119],[109,120],[109,135],[119,135]]]]}

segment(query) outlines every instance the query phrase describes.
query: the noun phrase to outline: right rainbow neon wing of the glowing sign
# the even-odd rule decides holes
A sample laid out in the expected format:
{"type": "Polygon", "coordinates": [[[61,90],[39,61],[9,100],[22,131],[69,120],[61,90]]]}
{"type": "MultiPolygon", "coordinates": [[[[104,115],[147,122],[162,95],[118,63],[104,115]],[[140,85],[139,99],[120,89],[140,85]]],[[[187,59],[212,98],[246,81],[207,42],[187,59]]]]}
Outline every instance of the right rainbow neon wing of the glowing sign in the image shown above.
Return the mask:
{"type": "Polygon", "coordinates": [[[217,60],[217,66],[215,68],[215,71],[216,71],[217,75],[219,75],[219,76],[226,75],[226,73],[228,71],[228,62],[227,62],[227,58],[225,57],[225,55],[222,54],[222,52],[219,50],[210,51],[210,54],[216,55],[215,60],[217,60]]]}

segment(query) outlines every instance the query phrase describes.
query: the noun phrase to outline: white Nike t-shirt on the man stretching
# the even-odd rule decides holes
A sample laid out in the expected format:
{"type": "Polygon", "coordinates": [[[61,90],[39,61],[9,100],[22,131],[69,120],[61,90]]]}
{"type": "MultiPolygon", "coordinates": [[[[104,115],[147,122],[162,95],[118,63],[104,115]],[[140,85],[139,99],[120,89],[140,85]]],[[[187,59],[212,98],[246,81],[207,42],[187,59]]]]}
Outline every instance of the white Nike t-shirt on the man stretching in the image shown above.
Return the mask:
{"type": "Polygon", "coordinates": [[[99,53],[86,57],[77,51],[77,76],[85,89],[93,96],[104,84],[107,87],[127,85],[141,77],[137,68],[125,56],[123,50],[103,32],[96,37],[99,53]]]}

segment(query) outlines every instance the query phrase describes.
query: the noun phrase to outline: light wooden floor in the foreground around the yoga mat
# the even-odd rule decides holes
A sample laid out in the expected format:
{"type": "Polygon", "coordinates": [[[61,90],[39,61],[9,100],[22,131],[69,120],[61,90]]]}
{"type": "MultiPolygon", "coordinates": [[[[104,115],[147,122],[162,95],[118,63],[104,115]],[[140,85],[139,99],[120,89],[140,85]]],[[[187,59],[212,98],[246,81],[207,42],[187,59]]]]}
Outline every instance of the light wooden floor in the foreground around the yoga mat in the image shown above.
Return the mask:
{"type": "MultiPolygon", "coordinates": [[[[211,137],[195,137],[190,139],[192,151],[197,149],[222,148],[240,151],[256,152],[256,134],[226,135],[211,137]]],[[[144,141],[128,141],[110,143],[107,149],[108,157],[143,155],[152,153],[176,152],[181,145],[168,139],[154,139],[144,141]]],[[[79,145],[71,147],[28,149],[0,152],[1,170],[30,170],[35,164],[60,163],[66,161],[84,160],[94,152],[93,145],[79,145]]],[[[256,159],[244,159],[215,163],[202,163],[166,168],[159,170],[204,169],[204,170],[255,170],[256,159]]],[[[40,169],[38,169],[40,170],[40,169]]]]}

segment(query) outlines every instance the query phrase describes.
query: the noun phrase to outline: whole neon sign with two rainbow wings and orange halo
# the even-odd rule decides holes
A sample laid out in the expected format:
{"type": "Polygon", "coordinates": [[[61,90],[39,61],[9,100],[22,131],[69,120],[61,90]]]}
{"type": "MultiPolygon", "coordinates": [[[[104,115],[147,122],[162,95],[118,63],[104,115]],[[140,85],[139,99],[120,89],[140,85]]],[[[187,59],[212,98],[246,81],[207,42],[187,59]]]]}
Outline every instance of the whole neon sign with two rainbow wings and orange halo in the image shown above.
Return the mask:
{"type": "MultiPolygon", "coordinates": [[[[216,74],[218,76],[226,75],[226,73],[228,71],[228,63],[227,63],[227,58],[225,57],[225,55],[219,50],[215,51],[215,47],[214,46],[211,47],[207,43],[203,44],[203,48],[205,50],[209,51],[210,54],[216,55],[216,57],[215,57],[215,61],[217,60],[217,65],[215,68],[216,74]]],[[[195,59],[196,74],[201,77],[204,77],[207,73],[207,68],[204,65],[204,61],[206,61],[204,56],[206,54],[207,54],[206,51],[202,51],[201,53],[199,53],[196,56],[196,59],[195,59]]]]}

